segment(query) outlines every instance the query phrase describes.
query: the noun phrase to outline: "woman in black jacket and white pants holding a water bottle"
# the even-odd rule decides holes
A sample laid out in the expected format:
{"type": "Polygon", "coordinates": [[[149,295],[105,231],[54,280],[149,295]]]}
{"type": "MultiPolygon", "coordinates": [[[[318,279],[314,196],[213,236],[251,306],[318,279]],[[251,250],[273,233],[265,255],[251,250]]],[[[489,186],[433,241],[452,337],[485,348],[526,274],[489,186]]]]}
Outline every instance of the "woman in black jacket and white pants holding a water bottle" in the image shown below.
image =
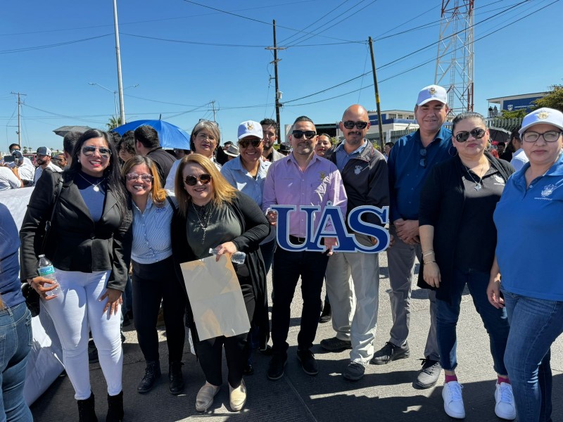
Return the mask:
{"type": "Polygon", "coordinates": [[[106,421],[123,418],[120,304],[129,269],[130,226],[118,153],[106,132],[89,129],[72,151],[69,170],[46,171],[37,181],[20,230],[22,279],[41,295],[53,319],[79,421],[97,420],[88,367],[89,330],[108,385],[106,421]],[[53,206],[51,233],[58,236],[47,236],[42,250],[53,206]],[[42,253],[53,263],[61,286],[54,296],[47,293],[56,285],[37,274],[37,256],[42,253]]]}

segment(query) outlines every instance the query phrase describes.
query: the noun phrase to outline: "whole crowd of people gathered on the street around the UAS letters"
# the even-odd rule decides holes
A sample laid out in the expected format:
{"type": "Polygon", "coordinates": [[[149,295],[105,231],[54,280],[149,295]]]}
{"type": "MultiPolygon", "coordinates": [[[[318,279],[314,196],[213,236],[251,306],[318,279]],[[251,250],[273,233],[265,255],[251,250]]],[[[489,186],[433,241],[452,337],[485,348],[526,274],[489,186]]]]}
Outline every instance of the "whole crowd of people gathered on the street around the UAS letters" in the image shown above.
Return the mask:
{"type": "MultiPolygon", "coordinates": [[[[308,376],[320,372],[312,352],[320,321],[331,320],[334,329],[320,347],[350,350],[341,371],[349,381],[360,380],[369,364],[410,357],[418,260],[417,283],[428,291],[429,333],[415,385],[433,387],[443,370],[444,411],[465,417],[455,370],[456,329],[467,286],[490,340],[496,416],[550,421],[550,346],[563,331],[563,278],[550,264],[557,262],[563,231],[563,113],[541,108],[526,115],[512,133],[510,162],[503,159],[504,151],[498,151],[500,157],[489,151],[483,116],[461,113],[448,129],[447,115],[445,89],[424,87],[415,105],[419,129],[387,143],[384,153],[366,139],[369,117],[357,104],[344,110],[339,123],[343,141],[337,144],[318,134],[307,116],[296,118],[289,145],[279,150],[274,148],[279,127],[270,119],[242,122],[236,144],[223,146],[217,124],[201,120],[191,132],[189,150],[178,149],[174,155],[160,147],[152,127],[141,126],[118,139],[90,129],[65,136],[64,153],[55,158],[49,148],[38,148],[36,170],[27,168],[31,163],[20,159],[13,144],[18,164],[9,171],[18,183],[11,184],[23,185],[25,174],[35,188],[19,234],[0,204],[0,234],[7,240],[0,245],[0,335],[6,335],[6,345],[14,345],[0,368],[7,420],[32,420],[22,397],[29,347],[18,345],[17,339],[31,333],[19,279],[39,293],[53,319],[83,422],[97,421],[89,379],[88,343],[93,338],[107,383],[106,421],[113,422],[121,421],[126,411],[124,308],[132,309],[146,360],[137,392],[153,390],[161,376],[156,326],[162,309],[170,393],[184,390],[188,326],[205,376],[194,397],[195,409],[209,409],[222,387],[224,349],[229,406],[239,411],[246,404],[244,376],[253,373],[255,350],[270,356],[267,378],[284,376],[291,302],[300,279],[296,362],[308,376]],[[289,213],[288,232],[280,236],[298,246],[321,229],[323,250],[279,247],[275,205],[298,207],[289,213]],[[308,211],[313,215],[307,219],[299,210],[310,205],[316,211],[308,211]],[[378,254],[336,252],[334,222],[318,226],[327,207],[339,207],[347,217],[365,205],[386,208],[390,216],[386,254],[393,326],[384,342],[375,335],[382,300],[378,254]],[[308,227],[308,221],[314,226],[308,227]],[[46,223],[65,243],[46,233],[46,223]],[[233,267],[251,328],[200,339],[201,314],[194,312],[185,284],[191,280],[180,264],[211,255],[218,261],[236,252],[245,254],[243,263],[233,267]],[[42,254],[56,269],[56,283],[37,271],[42,254]],[[272,298],[266,287],[270,269],[272,298]],[[60,293],[52,295],[55,288],[60,293]]],[[[374,214],[362,219],[385,226],[374,214]]],[[[377,238],[355,233],[346,224],[358,245],[377,245],[377,238]]]]}

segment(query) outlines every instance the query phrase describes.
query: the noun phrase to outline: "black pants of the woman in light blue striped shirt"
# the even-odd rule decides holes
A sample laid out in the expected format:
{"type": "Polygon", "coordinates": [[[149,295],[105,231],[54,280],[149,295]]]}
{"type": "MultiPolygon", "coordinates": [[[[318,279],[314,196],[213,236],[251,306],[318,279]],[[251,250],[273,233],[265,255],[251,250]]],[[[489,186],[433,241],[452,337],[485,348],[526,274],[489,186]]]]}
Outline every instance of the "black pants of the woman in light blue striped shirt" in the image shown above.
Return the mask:
{"type": "Polygon", "coordinates": [[[154,264],[133,261],[133,319],[139,346],[147,362],[158,360],[156,320],[163,302],[169,362],[179,362],[184,353],[186,295],[177,279],[172,257],[154,264]]]}

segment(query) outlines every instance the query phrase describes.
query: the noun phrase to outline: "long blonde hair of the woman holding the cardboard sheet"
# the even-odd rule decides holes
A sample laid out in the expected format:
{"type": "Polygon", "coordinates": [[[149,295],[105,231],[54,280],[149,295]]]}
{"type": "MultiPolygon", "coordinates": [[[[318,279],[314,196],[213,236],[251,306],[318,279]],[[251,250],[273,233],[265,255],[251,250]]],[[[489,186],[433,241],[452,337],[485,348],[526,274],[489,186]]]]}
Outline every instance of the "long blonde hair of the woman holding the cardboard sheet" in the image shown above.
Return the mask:
{"type": "Polygon", "coordinates": [[[182,158],[178,170],[176,172],[174,181],[174,191],[178,201],[180,213],[186,217],[188,214],[188,205],[191,201],[191,196],[184,188],[184,180],[182,174],[186,165],[196,164],[203,168],[205,173],[210,174],[211,183],[213,183],[213,203],[221,205],[222,203],[231,203],[234,199],[236,189],[232,187],[229,182],[222,176],[222,174],[215,167],[215,163],[209,158],[201,154],[190,154],[182,158]]]}

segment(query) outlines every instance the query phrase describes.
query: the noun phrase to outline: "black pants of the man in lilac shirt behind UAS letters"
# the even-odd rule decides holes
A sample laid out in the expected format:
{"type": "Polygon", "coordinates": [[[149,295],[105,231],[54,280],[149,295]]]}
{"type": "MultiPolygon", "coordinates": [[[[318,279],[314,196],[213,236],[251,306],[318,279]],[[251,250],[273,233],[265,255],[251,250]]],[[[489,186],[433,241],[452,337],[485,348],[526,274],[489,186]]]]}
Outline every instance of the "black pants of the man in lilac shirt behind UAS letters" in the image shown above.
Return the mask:
{"type": "Polygon", "coordinates": [[[289,252],[277,248],[274,252],[273,282],[274,298],[272,308],[272,342],[274,353],[286,354],[289,344],[289,319],[291,301],[297,281],[301,276],[301,330],[297,337],[299,350],[308,350],[317,335],[321,312],[321,290],[324,272],[329,257],[322,252],[289,252]]]}

